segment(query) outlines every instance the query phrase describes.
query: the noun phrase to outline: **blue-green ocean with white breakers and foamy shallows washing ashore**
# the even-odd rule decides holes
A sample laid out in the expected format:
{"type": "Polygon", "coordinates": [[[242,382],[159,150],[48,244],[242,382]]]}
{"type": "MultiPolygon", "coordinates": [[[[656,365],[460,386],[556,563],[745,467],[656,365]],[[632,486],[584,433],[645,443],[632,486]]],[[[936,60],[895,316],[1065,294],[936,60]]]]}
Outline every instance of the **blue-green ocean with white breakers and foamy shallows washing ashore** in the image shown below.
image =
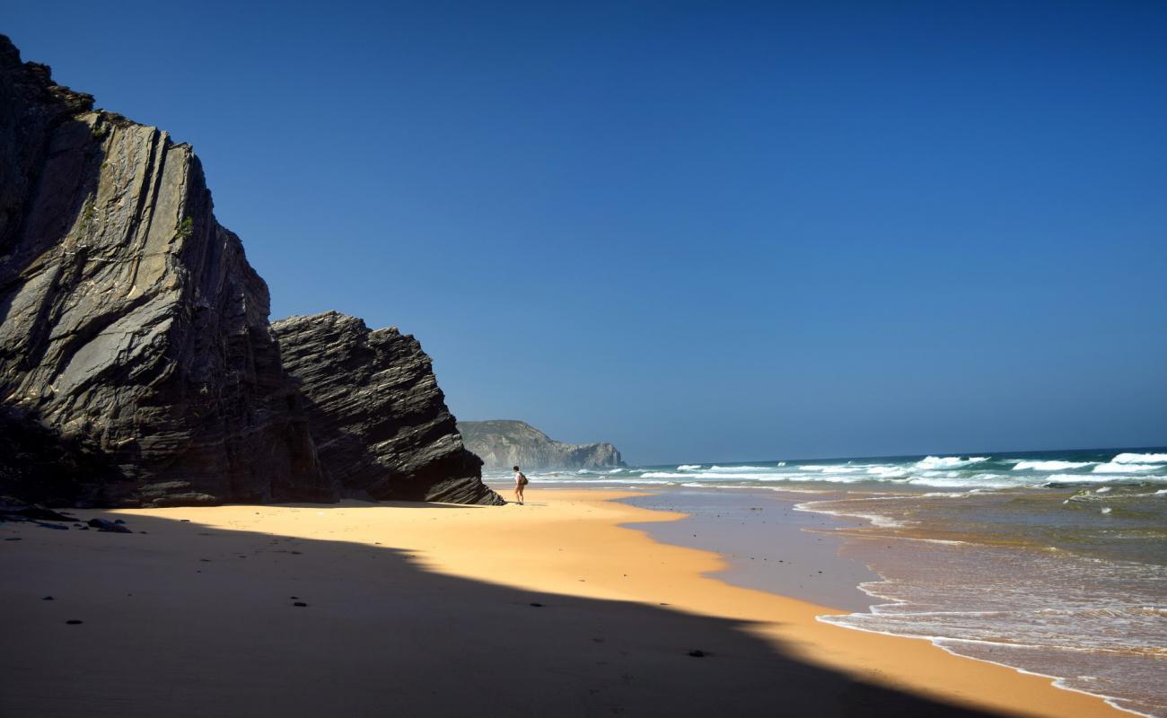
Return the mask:
{"type": "MultiPolygon", "coordinates": [[[[871,605],[820,620],[928,637],[956,654],[1055,677],[1127,711],[1167,717],[1167,448],[527,476],[533,489],[657,489],[684,493],[690,504],[762,492],[798,511],[836,517],[837,525],[803,530],[831,532],[841,539],[840,556],[869,569],[874,578],[858,588],[871,605]]],[[[487,476],[496,486],[508,477],[487,476]]],[[[756,529],[750,541],[767,542],[766,527],[756,529]]]]}

